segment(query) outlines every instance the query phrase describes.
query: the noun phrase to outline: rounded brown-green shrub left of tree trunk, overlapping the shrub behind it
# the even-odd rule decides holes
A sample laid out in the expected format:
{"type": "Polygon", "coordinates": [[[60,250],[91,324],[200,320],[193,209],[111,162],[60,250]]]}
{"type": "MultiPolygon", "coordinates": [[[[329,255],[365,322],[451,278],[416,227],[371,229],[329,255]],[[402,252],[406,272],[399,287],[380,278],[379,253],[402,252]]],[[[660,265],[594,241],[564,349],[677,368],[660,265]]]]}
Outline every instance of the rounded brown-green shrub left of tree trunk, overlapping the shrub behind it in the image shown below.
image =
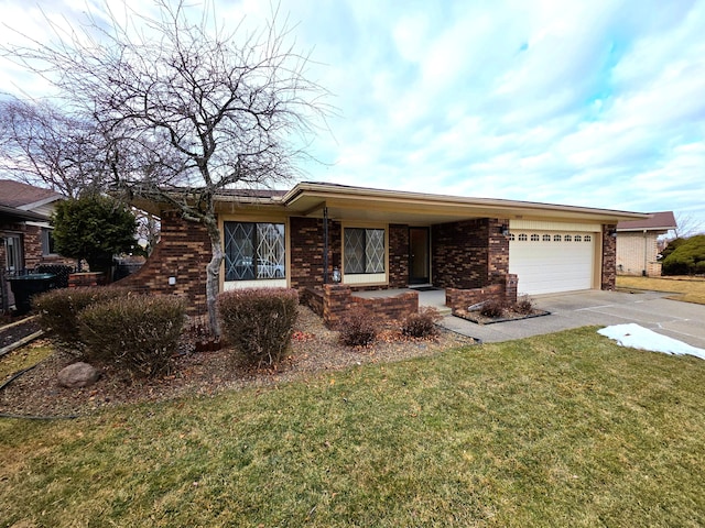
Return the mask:
{"type": "Polygon", "coordinates": [[[89,358],[155,377],[169,373],[185,315],[178,297],[132,295],[88,306],[78,327],[89,358]]]}

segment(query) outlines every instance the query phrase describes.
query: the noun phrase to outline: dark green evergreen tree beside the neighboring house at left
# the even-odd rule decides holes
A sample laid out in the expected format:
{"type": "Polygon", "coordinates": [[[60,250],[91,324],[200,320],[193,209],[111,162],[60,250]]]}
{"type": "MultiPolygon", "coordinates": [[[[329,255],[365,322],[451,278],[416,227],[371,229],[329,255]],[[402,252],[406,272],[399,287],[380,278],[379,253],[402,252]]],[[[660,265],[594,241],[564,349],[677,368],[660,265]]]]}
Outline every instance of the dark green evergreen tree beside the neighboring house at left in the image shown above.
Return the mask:
{"type": "Polygon", "coordinates": [[[108,272],[112,255],[131,250],[137,230],[132,211],[97,194],[58,202],[52,224],[56,251],[85,258],[91,272],[108,272]]]}

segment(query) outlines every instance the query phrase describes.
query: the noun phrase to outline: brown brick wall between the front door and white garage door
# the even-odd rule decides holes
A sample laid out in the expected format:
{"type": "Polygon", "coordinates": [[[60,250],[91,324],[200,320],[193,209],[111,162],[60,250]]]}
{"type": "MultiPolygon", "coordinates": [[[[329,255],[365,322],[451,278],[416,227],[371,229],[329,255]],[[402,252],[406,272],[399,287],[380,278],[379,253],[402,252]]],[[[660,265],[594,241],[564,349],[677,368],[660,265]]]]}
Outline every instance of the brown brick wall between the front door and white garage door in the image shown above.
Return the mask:
{"type": "Polygon", "coordinates": [[[509,240],[505,219],[482,218],[432,227],[433,285],[473,289],[509,272],[509,240]]]}

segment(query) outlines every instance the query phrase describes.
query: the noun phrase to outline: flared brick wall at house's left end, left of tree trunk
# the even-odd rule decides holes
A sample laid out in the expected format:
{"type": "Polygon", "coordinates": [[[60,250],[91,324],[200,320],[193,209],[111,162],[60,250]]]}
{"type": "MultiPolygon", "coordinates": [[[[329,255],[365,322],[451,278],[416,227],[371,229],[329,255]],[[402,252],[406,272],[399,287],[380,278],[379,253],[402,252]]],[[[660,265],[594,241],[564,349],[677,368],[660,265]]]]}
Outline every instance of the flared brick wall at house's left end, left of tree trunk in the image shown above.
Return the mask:
{"type": "Polygon", "coordinates": [[[208,233],[176,211],[163,211],[161,218],[161,240],[144,265],[113,284],[143,293],[181,295],[187,299],[189,315],[204,314],[206,265],[212,258],[208,233]],[[176,284],[170,285],[169,277],[175,277],[176,284]]]}

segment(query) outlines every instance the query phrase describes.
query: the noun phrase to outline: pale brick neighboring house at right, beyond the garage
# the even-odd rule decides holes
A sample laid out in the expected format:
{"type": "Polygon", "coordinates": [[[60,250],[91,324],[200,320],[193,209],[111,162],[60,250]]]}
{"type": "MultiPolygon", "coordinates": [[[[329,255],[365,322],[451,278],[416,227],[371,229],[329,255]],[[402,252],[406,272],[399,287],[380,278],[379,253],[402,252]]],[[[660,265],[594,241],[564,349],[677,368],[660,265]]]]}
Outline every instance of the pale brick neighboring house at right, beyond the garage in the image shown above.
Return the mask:
{"type": "Polygon", "coordinates": [[[617,274],[660,276],[658,238],[675,229],[672,211],[652,212],[643,220],[617,224],[617,274]]]}

